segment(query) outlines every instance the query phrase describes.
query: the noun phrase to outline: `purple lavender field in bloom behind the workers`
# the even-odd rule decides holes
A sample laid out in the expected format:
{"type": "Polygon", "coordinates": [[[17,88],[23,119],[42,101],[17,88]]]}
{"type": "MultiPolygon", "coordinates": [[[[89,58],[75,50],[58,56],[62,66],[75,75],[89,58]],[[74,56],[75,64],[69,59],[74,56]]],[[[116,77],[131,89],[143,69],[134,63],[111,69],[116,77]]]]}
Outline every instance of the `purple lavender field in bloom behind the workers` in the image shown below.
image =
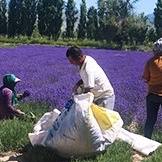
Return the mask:
{"type": "MultiPolygon", "coordinates": [[[[71,65],[65,56],[67,48],[43,45],[0,48],[0,78],[6,73],[14,73],[22,80],[17,90],[31,92],[26,102],[47,102],[53,108],[61,109],[79,79],[78,68],[71,65]]],[[[142,81],[142,72],[152,53],[94,48],[82,50],[98,61],[110,79],[116,94],[115,110],[124,123],[137,121],[143,126],[147,85],[142,81]]],[[[158,129],[162,127],[161,114],[156,125],[158,129]]]]}

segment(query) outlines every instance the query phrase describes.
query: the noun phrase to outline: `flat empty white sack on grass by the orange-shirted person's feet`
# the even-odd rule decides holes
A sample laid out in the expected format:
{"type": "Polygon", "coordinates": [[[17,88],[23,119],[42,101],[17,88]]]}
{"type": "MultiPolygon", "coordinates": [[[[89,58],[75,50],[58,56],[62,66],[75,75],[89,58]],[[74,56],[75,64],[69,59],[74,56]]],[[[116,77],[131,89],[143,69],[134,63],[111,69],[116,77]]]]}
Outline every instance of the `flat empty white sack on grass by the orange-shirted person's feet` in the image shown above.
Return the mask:
{"type": "Polygon", "coordinates": [[[133,149],[146,156],[150,155],[159,146],[161,146],[161,143],[157,141],[148,139],[139,134],[131,133],[124,128],[122,128],[120,133],[118,134],[118,139],[129,143],[133,149]]]}

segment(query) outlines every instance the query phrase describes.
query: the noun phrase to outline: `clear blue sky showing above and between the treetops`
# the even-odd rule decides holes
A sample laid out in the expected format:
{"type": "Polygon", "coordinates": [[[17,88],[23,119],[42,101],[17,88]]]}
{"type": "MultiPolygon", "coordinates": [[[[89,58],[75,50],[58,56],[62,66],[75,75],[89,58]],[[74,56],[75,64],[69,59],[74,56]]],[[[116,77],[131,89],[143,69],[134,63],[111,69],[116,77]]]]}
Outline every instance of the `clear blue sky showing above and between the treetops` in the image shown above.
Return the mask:
{"type": "MultiPolygon", "coordinates": [[[[77,4],[77,8],[81,4],[81,0],[74,0],[77,4]]],[[[154,8],[156,7],[157,0],[139,0],[134,4],[135,11],[137,14],[140,14],[142,12],[145,13],[145,15],[151,14],[154,12],[154,8]]],[[[97,6],[97,0],[86,0],[87,7],[90,6],[97,6]]]]}

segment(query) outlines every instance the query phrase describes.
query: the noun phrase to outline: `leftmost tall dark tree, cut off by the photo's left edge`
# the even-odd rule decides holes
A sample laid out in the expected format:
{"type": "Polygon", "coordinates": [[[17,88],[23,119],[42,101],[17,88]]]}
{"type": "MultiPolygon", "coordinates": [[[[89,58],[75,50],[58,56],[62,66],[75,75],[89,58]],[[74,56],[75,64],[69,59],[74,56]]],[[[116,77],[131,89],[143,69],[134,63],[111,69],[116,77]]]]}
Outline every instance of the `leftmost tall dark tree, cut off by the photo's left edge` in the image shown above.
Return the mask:
{"type": "Polygon", "coordinates": [[[7,34],[7,3],[6,0],[0,0],[0,35],[7,34]]]}

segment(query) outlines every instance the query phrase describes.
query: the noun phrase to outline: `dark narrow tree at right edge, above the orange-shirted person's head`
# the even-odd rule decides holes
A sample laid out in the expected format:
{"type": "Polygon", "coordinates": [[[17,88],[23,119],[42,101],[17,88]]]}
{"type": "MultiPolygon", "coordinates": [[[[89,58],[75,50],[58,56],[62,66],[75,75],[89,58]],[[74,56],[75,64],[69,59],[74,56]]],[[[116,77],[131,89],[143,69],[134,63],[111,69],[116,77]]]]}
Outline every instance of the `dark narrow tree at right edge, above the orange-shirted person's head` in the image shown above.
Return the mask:
{"type": "Polygon", "coordinates": [[[158,0],[154,9],[154,25],[158,38],[162,37],[162,0],[158,0]]]}

